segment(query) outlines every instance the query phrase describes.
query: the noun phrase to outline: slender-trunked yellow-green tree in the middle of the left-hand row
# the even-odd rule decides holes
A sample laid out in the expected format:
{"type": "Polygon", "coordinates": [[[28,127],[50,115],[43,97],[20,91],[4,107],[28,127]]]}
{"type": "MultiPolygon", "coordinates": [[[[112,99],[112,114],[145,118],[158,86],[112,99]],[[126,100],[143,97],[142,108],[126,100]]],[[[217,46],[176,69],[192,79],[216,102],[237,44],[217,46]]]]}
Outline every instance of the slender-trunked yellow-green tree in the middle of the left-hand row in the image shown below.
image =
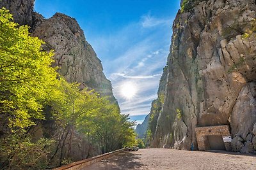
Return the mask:
{"type": "Polygon", "coordinates": [[[60,150],[60,166],[63,159],[70,156],[76,129],[79,129],[81,122],[88,122],[89,115],[95,113],[95,110],[99,110],[102,106],[101,103],[98,103],[98,94],[93,93],[92,90],[79,90],[78,87],[78,83],[68,83],[61,78],[58,98],[51,103],[56,125],[60,129],[57,134],[59,137],[56,139],[58,145],[52,159],[60,150]],[[63,151],[66,145],[68,145],[68,150],[65,157],[63,151]]]}

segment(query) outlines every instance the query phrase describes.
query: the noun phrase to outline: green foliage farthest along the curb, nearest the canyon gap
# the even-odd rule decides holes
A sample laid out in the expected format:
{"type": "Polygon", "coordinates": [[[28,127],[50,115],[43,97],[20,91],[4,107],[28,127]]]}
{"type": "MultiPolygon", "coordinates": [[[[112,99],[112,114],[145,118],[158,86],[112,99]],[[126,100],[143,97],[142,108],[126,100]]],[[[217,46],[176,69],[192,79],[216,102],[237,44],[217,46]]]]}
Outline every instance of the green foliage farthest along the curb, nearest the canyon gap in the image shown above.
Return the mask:
{"type": "Polygon", "coordinates": [[[88,115],[86,119],[89,122],[80,122],[79,129],[92,136],[102,153],[134,145],[136,134],[132,129],[134,122],[129,122],[129,115],[120,115],[118,106],[109,104],[104,98],[96,102],[103,105],[88,115]]]}

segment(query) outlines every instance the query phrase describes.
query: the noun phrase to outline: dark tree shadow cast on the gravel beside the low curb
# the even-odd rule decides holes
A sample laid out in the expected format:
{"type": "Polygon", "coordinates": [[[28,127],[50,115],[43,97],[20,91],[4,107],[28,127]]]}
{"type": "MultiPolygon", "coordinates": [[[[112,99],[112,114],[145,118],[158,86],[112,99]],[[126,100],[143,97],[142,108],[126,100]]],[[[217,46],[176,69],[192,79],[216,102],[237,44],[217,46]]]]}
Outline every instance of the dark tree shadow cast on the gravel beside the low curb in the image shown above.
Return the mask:
{"type": "Polygon", "coordinates": [[[140,164],[140,157],[136,152],[119,153],[117,157],[109,159],[114,166],[111,169],[139,169],[143,164],[140,164]]]}

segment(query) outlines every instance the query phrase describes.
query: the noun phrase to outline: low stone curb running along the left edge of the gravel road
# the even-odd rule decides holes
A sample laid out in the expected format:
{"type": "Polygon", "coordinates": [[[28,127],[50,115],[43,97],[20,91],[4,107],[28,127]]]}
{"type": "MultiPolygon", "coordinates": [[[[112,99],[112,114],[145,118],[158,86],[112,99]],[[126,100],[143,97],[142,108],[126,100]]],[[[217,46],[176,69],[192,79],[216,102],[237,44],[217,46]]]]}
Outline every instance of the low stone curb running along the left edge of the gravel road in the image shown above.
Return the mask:
{"type": "Polygon", "coordinates": [[[128,149],[129,148],[122,148],[120,150],[115,150],[113,152],[104,153],[102,155],[97,155],[97,156],[89,158],[89,159],[84,159],[84,160],[80,160],[80,161],[77,161],[77,162],[72,162],[71,164],[67,164],[65,166],[55,168],[53,170],[64,170],[64,169],[78,170],[78,169],[83,169],[84,167],[89,166],[90,164],[93,164],[95,162],[99,162],[102,159],[107,159],[108,157],[116,155],[117,153],[120,153],[120,152],[124,152],[128,149]]]}

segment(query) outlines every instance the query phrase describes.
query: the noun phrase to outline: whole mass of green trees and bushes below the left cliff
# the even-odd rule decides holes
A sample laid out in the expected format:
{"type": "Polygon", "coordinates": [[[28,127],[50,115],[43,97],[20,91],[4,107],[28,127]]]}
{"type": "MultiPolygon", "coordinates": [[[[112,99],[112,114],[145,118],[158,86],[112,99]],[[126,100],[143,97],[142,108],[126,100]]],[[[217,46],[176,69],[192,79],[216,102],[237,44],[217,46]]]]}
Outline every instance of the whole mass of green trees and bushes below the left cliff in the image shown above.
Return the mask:
{"type": "Polygon", "coordinates": [[[11,20],[2,8],[0,169],[45,169],[53,161],[61,166],[70,159],[76,133],[102,153],[133,145],[128,116],[94,91],[63,80],[51,67],[54,53],[42,51],[44,42],[11,20]],[[33,136],[44,121],[54,121],[54,131],[33,136]]]}

